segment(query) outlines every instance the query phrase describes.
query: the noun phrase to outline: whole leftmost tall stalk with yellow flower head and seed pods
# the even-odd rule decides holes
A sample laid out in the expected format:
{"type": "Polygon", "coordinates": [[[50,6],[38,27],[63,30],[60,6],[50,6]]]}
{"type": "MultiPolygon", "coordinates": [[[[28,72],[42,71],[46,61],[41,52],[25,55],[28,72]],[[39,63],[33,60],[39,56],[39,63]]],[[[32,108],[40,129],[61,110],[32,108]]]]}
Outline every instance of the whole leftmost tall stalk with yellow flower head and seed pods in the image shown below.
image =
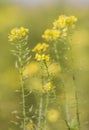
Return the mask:
{"type": "Polygon", "coordinates": [[[8,36],[9,41],[14,45],[14,50],[11,50],[12,54],[17,57],[16,68],[19,70],[21,95],[22,95],[22,130],[26,130],[26,104],[25,104],[25,77],[23,75],[24,69],[29,64],[29,48],[27,47],[28,29],[24,27],[13,28],[8,36]]]}

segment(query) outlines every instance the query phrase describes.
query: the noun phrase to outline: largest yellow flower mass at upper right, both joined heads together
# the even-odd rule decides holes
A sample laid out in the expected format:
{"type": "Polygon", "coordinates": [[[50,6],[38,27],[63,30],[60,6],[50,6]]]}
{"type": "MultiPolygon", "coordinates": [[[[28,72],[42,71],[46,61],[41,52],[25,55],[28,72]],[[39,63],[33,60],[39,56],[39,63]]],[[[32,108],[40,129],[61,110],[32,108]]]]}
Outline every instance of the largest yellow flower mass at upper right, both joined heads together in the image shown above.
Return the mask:
{"type": "Polygon", "coordinates": [[[61,15],[57,20],[53,22],[53,28],[45,30],[42,38],[47,41],[57,40],[67,37],[69,29],[75,25],[77,21],[75,16],[61,15]]]}

